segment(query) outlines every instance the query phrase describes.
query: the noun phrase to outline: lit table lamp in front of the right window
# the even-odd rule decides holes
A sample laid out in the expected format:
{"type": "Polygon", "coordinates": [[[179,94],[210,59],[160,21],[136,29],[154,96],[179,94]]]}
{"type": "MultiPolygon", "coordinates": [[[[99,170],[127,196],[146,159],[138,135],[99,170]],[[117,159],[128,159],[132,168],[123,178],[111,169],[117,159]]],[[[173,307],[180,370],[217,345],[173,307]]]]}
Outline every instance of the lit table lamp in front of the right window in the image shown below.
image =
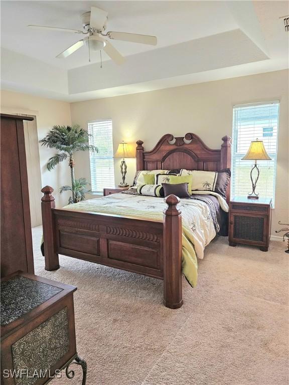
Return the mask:
{"type": "Polygon", "coordinates": [[[254,167],[251,169],[251,182],[252,182],[252,193],[248,193],[248,197],[250,199],[258,199],[258,195],[255,193],[255,188],[257,184],[257,180],[259,178],[259,168],[257,167],[257,160],[271,160],[270,156],[267,154],[264,143],[262,140],[252,140],[250,147],[246,153],[246,155],[241,160],[255,160],[254,167]],[[253,180],[253,170],[256,169],[257,175],[255,177],[255,180],[253,180]]]}

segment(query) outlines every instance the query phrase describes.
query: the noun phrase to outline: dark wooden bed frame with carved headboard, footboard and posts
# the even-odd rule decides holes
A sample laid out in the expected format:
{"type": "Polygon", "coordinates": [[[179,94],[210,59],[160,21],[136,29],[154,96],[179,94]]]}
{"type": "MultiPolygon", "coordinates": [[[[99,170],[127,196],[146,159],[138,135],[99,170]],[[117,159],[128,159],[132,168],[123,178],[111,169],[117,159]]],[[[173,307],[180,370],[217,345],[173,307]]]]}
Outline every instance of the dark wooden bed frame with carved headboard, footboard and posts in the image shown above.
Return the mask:
{"type": "MultiPolygon", "coordinates": [[[[231,138],[212,150],[195,134],[164,135],[144,151],[136,142],[137,170],[175,169],[218,171],[231,163],[231,138]]],[[[119,215],[55,209],[53,188],[42,189],[45,269],[59,269],[58,254],[164,280],[164,304],[182,306],[182,218],[179,198],[171,195],[163,223],[119,215]]],[[[229,197],[229,191],[227,191],[229,197]]]]}

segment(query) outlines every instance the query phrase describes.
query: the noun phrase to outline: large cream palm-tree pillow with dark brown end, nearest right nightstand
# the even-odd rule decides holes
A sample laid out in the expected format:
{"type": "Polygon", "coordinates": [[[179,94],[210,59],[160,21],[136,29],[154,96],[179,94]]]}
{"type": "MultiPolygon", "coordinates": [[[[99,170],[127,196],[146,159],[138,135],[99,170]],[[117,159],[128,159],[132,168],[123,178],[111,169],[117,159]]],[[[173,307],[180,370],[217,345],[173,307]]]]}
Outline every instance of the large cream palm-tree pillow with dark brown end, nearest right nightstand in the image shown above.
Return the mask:
{"type": "Polygon", "coordinates": [[[215,191],[223,198],[226,198],[226,189],[230,181],[231,171],[224,168],[221,171],[201,171],[185,170],[180,171],[180,175],[190,175],[192,190],[215,191]]]}

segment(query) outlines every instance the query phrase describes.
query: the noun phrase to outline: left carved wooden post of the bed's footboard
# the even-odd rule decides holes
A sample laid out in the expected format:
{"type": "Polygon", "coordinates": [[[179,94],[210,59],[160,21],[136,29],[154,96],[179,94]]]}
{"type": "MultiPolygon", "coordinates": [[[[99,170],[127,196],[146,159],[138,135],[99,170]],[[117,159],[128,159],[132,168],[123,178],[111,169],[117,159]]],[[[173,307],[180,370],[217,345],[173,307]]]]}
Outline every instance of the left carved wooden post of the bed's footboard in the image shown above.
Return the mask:
{"type": "Polygon", "coordinates": [[[45,270],[59,269],[58,254],[55,252],[55,231],[52,218],[52,209],[55,208],[55,198],[53,197],[53,188],[45,186],[42,188],[43,197],[41,198],[43,240],[45,270]]]}

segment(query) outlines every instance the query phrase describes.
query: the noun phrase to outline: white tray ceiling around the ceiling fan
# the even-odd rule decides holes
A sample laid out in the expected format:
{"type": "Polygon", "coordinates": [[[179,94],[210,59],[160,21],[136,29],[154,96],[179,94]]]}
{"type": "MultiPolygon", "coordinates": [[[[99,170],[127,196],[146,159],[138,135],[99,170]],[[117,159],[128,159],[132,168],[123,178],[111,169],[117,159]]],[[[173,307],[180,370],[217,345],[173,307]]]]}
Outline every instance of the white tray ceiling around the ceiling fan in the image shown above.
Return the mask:
{"type": "Polygon", "coordinates": [[[85,100],[189,84],[197,81],[194,79],[217,80],[228,74],[288,68],[289,33],[278,19],[289,14],[288,4],[250,0],[2,1],[2,87],[85,100]],[[79,40],[79,35],[27,28],[38,24],[81,29],[80,17],[91,6],[108,12],[107,31],[155,35],[158,45],[113,41],[126,63],[119,67],[103,54],[107,61],[100,69],[99,53],[94,53],[89,64],[85,47],[66,59],[55,58],[79,40]]]}

